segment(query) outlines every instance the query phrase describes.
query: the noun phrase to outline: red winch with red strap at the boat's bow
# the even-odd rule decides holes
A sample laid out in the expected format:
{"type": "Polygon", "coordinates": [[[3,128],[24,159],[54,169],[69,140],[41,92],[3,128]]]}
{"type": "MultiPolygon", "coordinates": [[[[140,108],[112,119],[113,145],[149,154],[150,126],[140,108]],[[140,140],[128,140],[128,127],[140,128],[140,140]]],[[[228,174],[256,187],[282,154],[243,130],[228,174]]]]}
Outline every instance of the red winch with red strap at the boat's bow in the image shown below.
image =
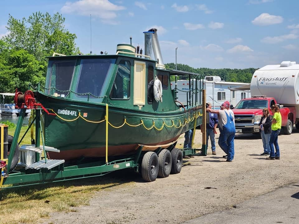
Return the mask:
{"type": "Polygon", "coordinates": [[[16,109],[39,109],[41,107],[48,115],[56,116],[50,113],[41,103],[37,103],[31,90],[27,90],[24,94],[16,89],[14,103],[16,109]]]}

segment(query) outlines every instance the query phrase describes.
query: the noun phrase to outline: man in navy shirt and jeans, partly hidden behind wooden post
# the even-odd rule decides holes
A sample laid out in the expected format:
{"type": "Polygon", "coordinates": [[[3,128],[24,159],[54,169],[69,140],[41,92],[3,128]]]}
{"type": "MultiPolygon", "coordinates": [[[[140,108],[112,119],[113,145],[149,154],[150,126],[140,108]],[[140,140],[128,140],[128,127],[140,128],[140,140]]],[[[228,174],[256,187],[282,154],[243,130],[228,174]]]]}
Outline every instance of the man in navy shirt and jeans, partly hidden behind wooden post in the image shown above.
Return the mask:
{"type": "MultiPolygon", "coordinates": [[[[206,103],[206,108],[212,108],[210,103],[206,103]]],[[[215,142],[215,134],[216,127],[218,125],[218,115],[215,113],[209,113],[209,123],[206,124],[206,147],[208,148],[209,136],[211,139],[211,148],[212,154],[216,155],[216,142],[215,142]]],[[[202,125],[200,125],[200,130],[202,132],[202,125]]]]}

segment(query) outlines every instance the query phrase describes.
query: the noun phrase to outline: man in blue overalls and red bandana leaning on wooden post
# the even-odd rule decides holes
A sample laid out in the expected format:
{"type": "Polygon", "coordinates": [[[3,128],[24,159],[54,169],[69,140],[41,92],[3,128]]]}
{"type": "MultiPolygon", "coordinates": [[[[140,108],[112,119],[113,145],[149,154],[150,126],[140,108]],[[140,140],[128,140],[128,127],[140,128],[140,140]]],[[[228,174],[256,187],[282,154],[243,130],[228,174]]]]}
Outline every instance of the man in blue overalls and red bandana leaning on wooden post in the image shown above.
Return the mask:
{"type": "Polygon", "coordinates": [[[213,110],[211,108],[206,109],[207,112],[219,114],[219,139],[218,144],[221,149],[227,154],[223,156],[226,158],[227,162],[231,162],[235,155],[235,115],[232,110],[230,110],[230,102],[224,101],[221,105],[221,110],[213,110]]]}

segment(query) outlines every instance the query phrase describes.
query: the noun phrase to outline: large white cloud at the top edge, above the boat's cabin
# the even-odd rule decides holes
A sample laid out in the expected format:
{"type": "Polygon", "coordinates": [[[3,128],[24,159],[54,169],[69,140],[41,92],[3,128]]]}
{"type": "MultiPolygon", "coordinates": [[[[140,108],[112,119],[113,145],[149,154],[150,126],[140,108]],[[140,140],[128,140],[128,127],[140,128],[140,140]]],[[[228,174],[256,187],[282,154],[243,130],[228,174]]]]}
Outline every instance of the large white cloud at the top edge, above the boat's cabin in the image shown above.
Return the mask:
{"type": "Polygon", "coordinates": [[[115,5],[108,0],[80,0],[66,2],[61,8],[62,13],[78,14],[82,16],[97,16],[101,19],[116,18],[115,11],[124,10],[126,7],[115,5]]]}

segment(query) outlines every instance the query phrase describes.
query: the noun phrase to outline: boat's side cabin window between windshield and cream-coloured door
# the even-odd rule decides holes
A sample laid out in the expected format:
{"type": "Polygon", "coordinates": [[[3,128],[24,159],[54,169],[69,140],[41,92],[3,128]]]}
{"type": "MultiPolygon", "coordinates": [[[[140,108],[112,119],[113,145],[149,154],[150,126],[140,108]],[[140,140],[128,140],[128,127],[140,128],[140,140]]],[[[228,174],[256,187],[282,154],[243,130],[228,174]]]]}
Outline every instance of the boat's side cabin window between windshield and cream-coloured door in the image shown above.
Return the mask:
{"type": "Polygon", "coordinates": [[[112,99],[129,99],[130,98],[130,80],[131,80],[131,63],[122,60],[116,72],[116,77],[112,85],[110,98],[112,99]]]}

